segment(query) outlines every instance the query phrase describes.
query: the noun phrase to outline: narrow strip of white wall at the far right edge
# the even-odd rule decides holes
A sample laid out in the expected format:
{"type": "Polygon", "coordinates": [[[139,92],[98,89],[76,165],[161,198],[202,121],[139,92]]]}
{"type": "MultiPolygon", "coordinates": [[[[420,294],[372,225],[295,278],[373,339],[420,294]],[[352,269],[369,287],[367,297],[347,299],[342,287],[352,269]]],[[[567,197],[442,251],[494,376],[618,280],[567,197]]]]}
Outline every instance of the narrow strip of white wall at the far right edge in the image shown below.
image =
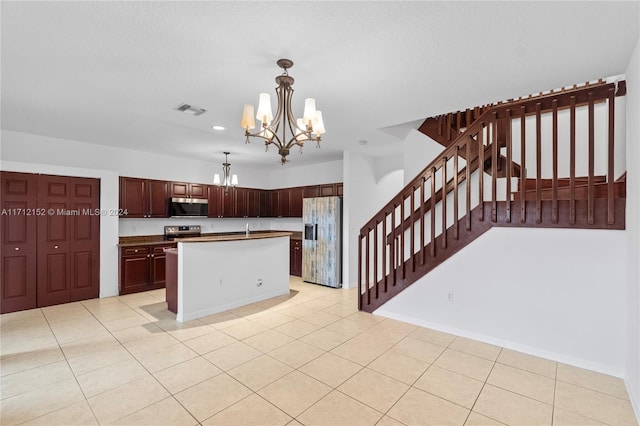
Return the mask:
{"type": "Polygon", "coordinates": [[[640,39],[627,74],[627,389],[640,419],[640,39]]]}

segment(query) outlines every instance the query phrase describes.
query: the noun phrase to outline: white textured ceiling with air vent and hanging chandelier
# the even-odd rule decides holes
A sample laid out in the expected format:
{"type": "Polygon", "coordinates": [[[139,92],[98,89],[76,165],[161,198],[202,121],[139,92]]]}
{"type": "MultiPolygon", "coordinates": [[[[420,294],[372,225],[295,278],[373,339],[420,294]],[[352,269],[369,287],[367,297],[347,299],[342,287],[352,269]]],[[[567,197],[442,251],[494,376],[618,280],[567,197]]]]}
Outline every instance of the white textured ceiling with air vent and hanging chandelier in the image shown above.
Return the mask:
{"type": "MultiPolygon", "coordinates": [[[[624,73],[639,2],[2,1],[2,128],[280,167],[244,103],[294,61],[327,133],[291,164],[381,155],[425,117],[624,73]],[[182,102],[208,110],[174,111],[182,102]],[[211,129],[220,124],[226,130],[211,129]],[[382,131],[381,131],[382,130],[382,131]],[[367,145],[358,141],[367,140],[367,145]]],[[[272,99],[275,96],[272,96],[272,99]]]]}

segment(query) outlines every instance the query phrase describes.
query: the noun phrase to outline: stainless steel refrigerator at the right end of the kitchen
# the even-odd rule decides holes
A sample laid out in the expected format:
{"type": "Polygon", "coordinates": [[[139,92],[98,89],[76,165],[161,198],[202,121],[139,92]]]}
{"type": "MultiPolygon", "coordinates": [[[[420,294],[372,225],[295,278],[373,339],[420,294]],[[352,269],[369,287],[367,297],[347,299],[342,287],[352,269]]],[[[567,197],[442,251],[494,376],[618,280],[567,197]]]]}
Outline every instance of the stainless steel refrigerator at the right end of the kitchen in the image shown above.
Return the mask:
{"type": "Polygon", "coordinates": [[[342,198],[305,198],[302,221],[302,279],[342,287],[342,198]]]}

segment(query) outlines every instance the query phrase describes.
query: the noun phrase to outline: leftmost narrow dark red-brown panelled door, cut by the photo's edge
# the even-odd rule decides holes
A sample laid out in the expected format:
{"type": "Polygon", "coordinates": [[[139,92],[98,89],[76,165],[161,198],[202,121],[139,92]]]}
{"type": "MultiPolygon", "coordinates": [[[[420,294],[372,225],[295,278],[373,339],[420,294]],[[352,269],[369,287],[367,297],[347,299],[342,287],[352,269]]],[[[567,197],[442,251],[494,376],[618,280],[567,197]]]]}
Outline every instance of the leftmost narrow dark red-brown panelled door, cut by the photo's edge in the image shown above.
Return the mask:
{"type": "Polygon", "coordinates": [[[1,313],[32,309],[36,301],[37,175],[0,173],[2,205],[0,216],[1,313]]]}

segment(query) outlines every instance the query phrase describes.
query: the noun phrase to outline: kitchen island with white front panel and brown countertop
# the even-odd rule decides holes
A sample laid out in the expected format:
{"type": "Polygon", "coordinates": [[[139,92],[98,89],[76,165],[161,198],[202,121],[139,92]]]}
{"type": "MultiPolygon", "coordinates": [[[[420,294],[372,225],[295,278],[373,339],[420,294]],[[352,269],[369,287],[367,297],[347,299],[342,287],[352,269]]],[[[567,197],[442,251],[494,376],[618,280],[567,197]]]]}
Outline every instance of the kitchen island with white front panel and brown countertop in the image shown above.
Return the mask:
{"type": "Polygon", "coordinates": [[[167,254],[167,304],[179,322],[289,294],[291,232],[183,238],[167,254]]]}

